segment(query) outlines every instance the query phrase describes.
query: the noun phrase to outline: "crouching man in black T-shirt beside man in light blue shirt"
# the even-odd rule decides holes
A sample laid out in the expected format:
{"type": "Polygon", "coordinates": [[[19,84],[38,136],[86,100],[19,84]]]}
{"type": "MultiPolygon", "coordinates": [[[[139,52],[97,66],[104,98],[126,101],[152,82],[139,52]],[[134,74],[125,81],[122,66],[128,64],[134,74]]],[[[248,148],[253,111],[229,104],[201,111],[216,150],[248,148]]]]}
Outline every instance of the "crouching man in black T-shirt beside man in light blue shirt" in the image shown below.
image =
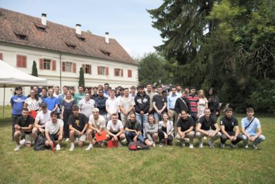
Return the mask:
{"type": "Polygon", "coordinates": [[[231,147],[236,147],[236,143],[243,140],[239,130],[239,123],[234,116],[232,116],[233,110],[232,108],[227,108],[225,110],[225,116],[223,116],[220,120],[221,126],[221,148],[225,147],[225,142],[230,139],[231,147]],[[234,128],[236,132],[234,132],[234,128]]]}

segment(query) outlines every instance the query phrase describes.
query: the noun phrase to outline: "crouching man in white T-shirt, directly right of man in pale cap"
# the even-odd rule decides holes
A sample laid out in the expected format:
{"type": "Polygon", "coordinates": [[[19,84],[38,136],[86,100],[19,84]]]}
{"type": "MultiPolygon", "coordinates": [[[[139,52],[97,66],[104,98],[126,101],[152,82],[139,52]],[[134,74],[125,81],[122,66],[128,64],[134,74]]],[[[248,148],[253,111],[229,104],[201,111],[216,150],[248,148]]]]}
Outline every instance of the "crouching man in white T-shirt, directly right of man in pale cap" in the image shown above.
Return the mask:
{"type": "Polygon", "coordinates": [[[111,114],[111,120],[107,123],[107,139],[111,141],[122,141],[125,139],[122,121],[118,119],[118,114],[111,114]]]}

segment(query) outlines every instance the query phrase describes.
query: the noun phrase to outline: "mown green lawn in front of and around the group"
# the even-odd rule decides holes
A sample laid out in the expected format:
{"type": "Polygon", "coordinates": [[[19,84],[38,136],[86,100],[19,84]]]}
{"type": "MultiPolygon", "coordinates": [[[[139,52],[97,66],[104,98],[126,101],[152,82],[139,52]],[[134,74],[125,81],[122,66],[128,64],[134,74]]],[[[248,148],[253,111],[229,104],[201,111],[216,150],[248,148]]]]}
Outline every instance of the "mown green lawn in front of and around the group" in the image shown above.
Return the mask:
{"type": "MultiPolygon", "coordinates": [[[[238,115],[239,121],[243,115],[238,115]]],[[[173,145],[144,151],[76,147],[36,152],[23,147],[14,152],[10,141],[10,118],[0,121],[0,183],[274,183],[274,117],[259,118],[267,140],[260,150],[203,149],[173,145]]],[[[197,142],[197,140],[196,140],[197,142]]],[[[176,142],[175,142],[176,143],[176,142]]],[[[229,142],[228,142],[229,143],[229,142]]]]}

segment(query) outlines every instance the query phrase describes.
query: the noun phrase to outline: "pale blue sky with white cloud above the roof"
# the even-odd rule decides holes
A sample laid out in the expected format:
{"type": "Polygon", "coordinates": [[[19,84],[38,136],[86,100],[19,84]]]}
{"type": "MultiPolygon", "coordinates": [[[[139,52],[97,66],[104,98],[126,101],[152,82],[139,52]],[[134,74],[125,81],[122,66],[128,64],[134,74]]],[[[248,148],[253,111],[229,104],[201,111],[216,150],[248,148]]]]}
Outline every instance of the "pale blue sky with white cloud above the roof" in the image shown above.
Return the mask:
{"type": "Polygon", "coordinates": [[[160,32],[151,26],[153,19],[146,9],[159,8],[161,0],[0,0],[0,7],[33,17],[47,14],[47,20],[111,39],[134,58],[154,52],[162,45],[160,32]]]}

